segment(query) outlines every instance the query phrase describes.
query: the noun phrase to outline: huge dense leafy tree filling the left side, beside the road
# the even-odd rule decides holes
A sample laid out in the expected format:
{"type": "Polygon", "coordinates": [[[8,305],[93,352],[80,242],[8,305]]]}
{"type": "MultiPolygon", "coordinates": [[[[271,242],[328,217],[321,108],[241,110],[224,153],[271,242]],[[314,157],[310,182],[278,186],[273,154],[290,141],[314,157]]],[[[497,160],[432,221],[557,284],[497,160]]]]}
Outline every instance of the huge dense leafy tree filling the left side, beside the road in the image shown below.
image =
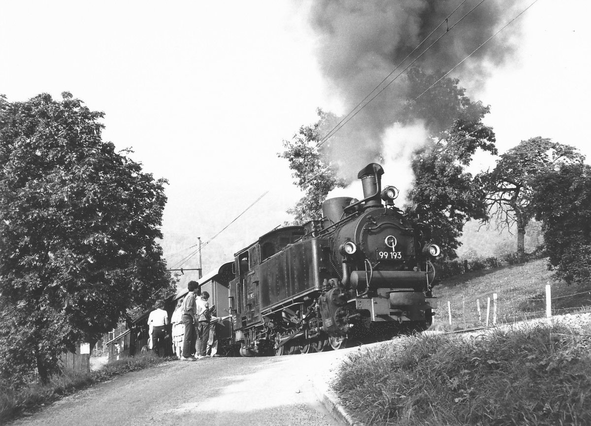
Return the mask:
{"type": "Polygon", "coordinates": [[[156,242],[165,181],[102,141],[103,113],[62,96],[0,97],[2,323],[24,330],[42,381],[63,350],[173,291],[156,242]]]}

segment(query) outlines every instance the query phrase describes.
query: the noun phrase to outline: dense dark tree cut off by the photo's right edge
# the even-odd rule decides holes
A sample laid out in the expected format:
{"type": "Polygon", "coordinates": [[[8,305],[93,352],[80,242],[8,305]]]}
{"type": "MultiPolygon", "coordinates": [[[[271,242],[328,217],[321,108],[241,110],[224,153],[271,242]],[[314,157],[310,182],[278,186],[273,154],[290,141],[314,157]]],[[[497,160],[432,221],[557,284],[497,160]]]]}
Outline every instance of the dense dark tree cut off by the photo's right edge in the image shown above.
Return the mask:
{"type": "Polygon", "coordinates": [[[549,266],[567,283],[591,279],[591,166],[561,163],[535,176],[528,209],[543,222],[549,266]]]}

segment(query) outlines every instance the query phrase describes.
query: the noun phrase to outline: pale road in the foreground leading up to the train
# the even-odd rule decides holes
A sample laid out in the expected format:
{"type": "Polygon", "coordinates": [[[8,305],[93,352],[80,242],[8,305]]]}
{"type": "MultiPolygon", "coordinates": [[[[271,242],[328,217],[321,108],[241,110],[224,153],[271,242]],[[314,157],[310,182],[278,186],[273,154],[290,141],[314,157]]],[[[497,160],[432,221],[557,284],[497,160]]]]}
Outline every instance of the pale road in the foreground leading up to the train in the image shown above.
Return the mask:
{"type": "Polygon", "coordinates": [[[349,349],[170,361],[61,399],[11,425],[337,425],[314,391],[349,349]]]}

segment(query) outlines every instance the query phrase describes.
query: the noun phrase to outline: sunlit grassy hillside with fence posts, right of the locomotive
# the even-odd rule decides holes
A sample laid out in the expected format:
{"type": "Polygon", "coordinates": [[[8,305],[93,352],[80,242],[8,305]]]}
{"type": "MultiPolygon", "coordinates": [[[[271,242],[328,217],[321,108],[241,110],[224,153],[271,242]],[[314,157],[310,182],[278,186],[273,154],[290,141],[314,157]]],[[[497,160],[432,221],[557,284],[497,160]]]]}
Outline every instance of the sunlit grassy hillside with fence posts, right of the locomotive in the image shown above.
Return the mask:
{"type": "Polygon", "coordinates": [[[490,323],[493,320],[493,293],[497,294],[497,322],[512,322],[545,314],[545,286],[550,284],[554,314],[591,309],[591,283],[568,285],[553,280],[547,259],[521,265],[467,272],[446,278],[434,287],[439,309],[433,329],[450,330],[479,326],[486,322],[486,304],[491,298],[490,323]],[[480,300],[480,318],[476,300],[480,300]],[[447,302],[451,304],[449,324],[447,302]]]}

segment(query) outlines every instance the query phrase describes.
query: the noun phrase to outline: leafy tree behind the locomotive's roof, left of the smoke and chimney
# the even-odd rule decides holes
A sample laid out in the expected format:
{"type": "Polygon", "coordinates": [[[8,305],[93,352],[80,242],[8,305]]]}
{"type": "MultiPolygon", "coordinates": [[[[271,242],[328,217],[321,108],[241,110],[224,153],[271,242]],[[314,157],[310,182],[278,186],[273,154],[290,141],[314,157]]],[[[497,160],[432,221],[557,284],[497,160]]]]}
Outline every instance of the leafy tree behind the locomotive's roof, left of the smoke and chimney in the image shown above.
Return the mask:
{"type": "Polygon", "coordinates": [[[295,224],[304,224],[311,219],[322,218],[322,202],[326,195],[335,188],[345,188],[345,181],[337,178],[337,166],[331,163],[323,151],[322,137],[337,123],[336,116],[317,109],[318,121],[301,126],[291,140],[284,140],[284,152],[279,153],[285,158],[296,178],[294,185],[305,193],[300,201],[288,209],[294,215],[295,224]]]}

